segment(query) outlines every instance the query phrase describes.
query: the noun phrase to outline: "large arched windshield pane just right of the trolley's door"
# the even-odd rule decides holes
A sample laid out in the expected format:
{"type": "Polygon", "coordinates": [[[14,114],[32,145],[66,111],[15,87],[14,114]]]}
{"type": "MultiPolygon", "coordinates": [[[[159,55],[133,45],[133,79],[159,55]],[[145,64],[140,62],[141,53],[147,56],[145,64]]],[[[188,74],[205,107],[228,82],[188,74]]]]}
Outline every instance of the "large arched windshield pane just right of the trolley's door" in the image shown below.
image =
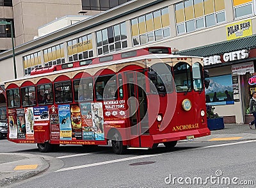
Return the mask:
{"type": "Polygon", "coordinates": [[[152,93],[172,93],[172,68],[164,63],[152,65],[148,77],[152,81],[150,91],[152,93]],[[154,85],[153,85],[154,84],[154,85]]]}

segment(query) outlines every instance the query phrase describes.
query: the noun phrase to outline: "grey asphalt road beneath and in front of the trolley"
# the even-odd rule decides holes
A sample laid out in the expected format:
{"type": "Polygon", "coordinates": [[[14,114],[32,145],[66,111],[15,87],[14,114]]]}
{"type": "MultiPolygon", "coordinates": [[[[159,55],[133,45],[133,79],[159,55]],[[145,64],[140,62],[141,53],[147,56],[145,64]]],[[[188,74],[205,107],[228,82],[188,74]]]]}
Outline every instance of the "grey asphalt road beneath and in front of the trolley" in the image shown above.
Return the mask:
{"type": "MultiPolygon", "coordinates": [[[[190,142],[178,143],[173,151],[159,146],[153,151],[129,150],[127,155],[115,155],[106,146],[90,151],[61,146],[59,152],[43,153],[56,157],[61,166],[52,162],[45,173],[10,187],[255,187],[234,185],[243,180],[256,184],[255,145],[256,141],[190,142]],[[207,184],[194,183],[198,178],[207,184]]],[[[34,144],[7,140],[0,140],[0,152],[42,155],[34,144]]]]}

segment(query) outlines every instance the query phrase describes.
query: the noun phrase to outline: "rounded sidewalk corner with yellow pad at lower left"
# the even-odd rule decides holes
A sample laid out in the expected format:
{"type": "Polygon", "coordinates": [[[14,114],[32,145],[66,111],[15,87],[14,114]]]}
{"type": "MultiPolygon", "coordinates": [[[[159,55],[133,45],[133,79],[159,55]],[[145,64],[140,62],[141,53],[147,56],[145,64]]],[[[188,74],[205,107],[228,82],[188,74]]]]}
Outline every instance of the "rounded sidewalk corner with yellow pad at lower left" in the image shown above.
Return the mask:
{"type": "Polygon", "coordinates": [[[42,173],[49,168],[43,157],[27,153],[0,153],[0,187],[42,173]]]}

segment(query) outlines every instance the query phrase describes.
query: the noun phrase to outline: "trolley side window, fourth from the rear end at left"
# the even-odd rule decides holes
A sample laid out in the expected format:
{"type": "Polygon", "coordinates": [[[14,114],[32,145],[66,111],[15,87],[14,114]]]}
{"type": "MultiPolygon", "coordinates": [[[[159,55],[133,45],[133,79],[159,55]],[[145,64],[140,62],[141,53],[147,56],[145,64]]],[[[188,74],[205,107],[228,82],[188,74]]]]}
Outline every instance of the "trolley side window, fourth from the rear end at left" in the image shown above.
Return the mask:
{"type": "Polygon", "coordinates": [[[71,81],[58,82],[54,84],[55,102],[72,102],[72,84],[71,81]]]}

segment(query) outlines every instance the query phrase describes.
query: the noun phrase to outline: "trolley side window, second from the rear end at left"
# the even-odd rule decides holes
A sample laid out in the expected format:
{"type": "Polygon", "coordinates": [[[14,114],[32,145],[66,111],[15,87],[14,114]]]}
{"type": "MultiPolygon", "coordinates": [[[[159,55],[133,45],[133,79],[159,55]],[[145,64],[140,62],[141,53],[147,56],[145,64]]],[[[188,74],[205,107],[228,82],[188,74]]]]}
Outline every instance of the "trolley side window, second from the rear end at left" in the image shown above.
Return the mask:
{"type": "Polygon", "coordinates": [[[22,98],[22,106],[35,106],[36,105],[36,91],[35,86],[29,86],[26,88],[21,88],[21,98],[22,98]]]}

